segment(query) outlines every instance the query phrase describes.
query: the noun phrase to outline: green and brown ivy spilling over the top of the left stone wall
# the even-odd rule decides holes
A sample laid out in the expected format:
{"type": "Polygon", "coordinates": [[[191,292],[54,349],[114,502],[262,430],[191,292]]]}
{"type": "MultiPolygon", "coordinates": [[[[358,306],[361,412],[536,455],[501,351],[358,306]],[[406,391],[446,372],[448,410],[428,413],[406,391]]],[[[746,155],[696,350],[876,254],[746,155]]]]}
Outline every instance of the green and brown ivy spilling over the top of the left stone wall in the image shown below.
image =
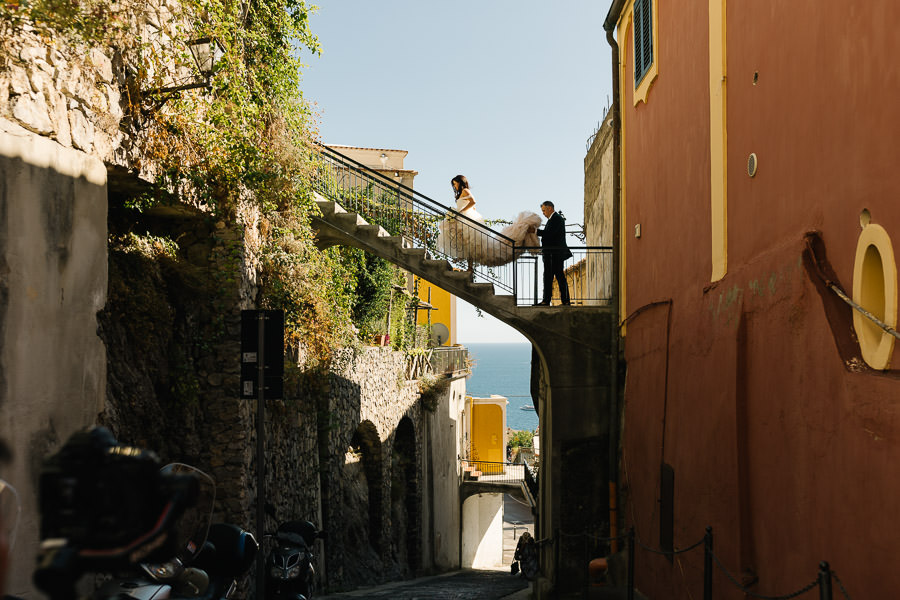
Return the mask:
{"type": "MultiPolygon", "coordinates": [[[[156,184],[126,206],[177,198],[228,227],[255,228],[260,306],[285,311],[288,343],[315,363],[354,343],[357,332],[366,338],[386,326],[391,286],[401,279],[380,259],[314,246],[317,125],[299,58],[301,49],[321,52],[311,10],[304,0],[5,0],[0,58],[18,60],[10,40],[23,32],[72,57],[86,48],[112,57],[131,166],[156,184]],[[224,50],[210,88],[161,103],[148,90],[196,78],[187,41],[200,37],[224,50]]],[[[409,337],[402,323],[392,316],[401,340],[409,337]]]]}

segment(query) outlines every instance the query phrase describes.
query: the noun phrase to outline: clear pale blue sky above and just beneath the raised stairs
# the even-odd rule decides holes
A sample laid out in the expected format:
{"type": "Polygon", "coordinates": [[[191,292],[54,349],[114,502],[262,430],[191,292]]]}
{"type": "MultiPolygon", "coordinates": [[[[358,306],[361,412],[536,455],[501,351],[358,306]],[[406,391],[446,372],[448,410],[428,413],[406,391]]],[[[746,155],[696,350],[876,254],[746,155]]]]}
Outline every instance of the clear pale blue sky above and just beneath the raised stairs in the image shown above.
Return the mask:
{"type": "MultiPolygon", "coordinates": [[[[611,97],[608,0],[320,0],[303,93],[326,144],[407,150],[416,189],[486,218],[552,200],[583,222],[587,138],[611,97]]],[[[525,341],[458,301],[457,341],[525,341]]]]}

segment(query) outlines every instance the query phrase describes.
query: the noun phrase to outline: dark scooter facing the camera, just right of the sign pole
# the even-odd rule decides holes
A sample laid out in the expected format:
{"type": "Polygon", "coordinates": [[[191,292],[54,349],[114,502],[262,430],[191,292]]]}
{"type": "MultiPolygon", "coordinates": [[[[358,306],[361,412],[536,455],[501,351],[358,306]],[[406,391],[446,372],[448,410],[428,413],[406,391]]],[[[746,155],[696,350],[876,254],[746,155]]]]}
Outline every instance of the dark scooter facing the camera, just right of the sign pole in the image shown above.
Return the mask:
{"type": "Polygon", "coordinates": [[[313,543],[324,537],[310,521],[278,526],[275,545],[266,557],[267,600],[309,600],[315,588],[313,543]]]}

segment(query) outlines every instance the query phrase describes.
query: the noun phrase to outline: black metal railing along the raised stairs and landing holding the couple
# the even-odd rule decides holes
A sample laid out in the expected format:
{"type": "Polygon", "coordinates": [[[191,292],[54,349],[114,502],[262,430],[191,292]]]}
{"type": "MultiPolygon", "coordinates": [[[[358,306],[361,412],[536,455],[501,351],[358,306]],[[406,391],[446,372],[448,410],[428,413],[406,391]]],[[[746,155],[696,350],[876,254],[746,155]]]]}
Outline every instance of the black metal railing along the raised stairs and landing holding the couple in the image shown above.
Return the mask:
{"type": "MultiPolygon", "coordinates": [[[[496,293],[512,295],[519,305],[540,300],[543,261],[548,249],[517,246],[515,241],[455,209],[432,200],[335,150],[318,146],[311,173],[313,189],[349,212],[402,237],[407,247],[423,248],[459,269],[471,269],[475,281],[492,283],[496,293]]],[[[566,261],[573,304],[604,305],[612,297],[603,273],[612,273],[612,247],[573,247],[566,261]]]]}

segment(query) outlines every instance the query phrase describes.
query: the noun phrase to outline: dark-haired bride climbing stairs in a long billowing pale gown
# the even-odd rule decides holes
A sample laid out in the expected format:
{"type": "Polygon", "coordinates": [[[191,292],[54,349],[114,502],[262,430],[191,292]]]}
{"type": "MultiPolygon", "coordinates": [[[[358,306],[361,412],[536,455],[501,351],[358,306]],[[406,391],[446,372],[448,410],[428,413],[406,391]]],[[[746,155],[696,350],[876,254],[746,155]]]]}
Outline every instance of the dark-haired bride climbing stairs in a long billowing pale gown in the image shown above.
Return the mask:
{"type": "MultiPolygon", "coordinates": [[[[484,224],[484,218],[475,210],[475,198],[469,191],[469,181],[464,175],[450,180],[456,197],[456,211],[438,225],[437,249],[451,258],[465,259],[468,270],[477,262],[486,266],[500,266],[512,262],[513,246],[537,247],[540,241],[533,229],[541,224],[541,218],[533,212],[521,212],[516,220],[504,227],[497,237],[484,224]],[[458,215],[466,217],[461,219],[458,215]],[[474,222],[473,222],[474,221],[474,222]],[[534,227],[532,227],[534,226],[534,227]]],[[[518,253],[518,252],[517,252],[518,253]]]]}

